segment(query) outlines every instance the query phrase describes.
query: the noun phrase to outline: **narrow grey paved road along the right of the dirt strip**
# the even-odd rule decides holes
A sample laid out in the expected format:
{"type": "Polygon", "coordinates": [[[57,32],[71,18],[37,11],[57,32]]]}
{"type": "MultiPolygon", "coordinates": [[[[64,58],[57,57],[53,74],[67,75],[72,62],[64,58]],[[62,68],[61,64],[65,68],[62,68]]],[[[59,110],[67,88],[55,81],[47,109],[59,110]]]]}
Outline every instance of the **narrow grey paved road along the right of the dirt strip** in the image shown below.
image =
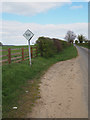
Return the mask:
{"type": "Polygon", "coordinates": [[[79,64],[81,67],[81,72],[83,74],[83,87],[84,87],[84,97],[88,108],[88,58],[90,56],[90,50],[87,48],[76,46],[79,54],[79,64]]]}

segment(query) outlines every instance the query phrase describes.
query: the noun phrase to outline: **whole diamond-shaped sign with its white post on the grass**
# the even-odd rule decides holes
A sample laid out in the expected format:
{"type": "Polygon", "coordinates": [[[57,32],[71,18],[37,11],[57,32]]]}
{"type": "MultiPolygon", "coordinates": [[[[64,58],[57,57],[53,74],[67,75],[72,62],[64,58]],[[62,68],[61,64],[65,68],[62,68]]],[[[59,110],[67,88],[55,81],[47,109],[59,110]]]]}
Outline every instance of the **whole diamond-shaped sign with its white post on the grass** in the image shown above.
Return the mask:
{"type": "Polygon", "coordinates": [[[29,61],[30,61],[30,66],[31,66],[31,48],[30,48],[30,40],[34,36],[34,34],[28,29],[23,36],[28,40],[28,46],[29,46],[29,61]]]}

